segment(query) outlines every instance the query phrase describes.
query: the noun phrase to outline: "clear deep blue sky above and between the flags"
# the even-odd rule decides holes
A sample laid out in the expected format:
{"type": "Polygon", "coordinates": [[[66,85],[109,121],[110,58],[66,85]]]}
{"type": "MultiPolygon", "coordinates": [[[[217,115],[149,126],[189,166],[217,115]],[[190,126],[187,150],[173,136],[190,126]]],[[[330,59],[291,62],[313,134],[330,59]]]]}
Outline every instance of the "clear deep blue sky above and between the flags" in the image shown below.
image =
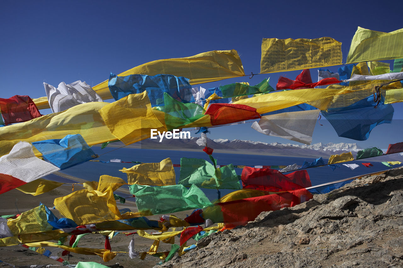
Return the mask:
{"type": "MultiPolygon", "coordinates": [[[[390,32],[403,27],[400,0],[380,5],[351,1],[3,1],[0,75],[2,98],[45,96],[43,82],[86,81],[94,86],[134,66],[164,58],[192,56],[211,50],[236,49],[246,74],[259,73],[262,38],[332,37],[343,43],[343,62],[358,26],[390,32]],[[335,2],[336,3],[336,2],[335,2]]],[[[392,62],[392,61],[389,61],[392,62]]],[[[330,67],[337,72],[338,67],[330,67]]],[[[294,79],[300,71],[233,78],[202,85],[233,82],[252,85],[279,75],[294,79]]],[[[311,69],[312,80],[317,80],[311,69]]],[[[326,120],[314,132],[316,142],[357,142],[386,148],[403,141],[402,105],[394,105],[393,124],[377,126],[358,142],[337,137],[326,120]]],[[[42,113],[49,113],[50,110],[42,113]]],[[[210,138],[287,143],[252,130],[250,124],[212,128],[210,138]]],[[[295,142],[292,142],[295,143],[295,142]]]]}

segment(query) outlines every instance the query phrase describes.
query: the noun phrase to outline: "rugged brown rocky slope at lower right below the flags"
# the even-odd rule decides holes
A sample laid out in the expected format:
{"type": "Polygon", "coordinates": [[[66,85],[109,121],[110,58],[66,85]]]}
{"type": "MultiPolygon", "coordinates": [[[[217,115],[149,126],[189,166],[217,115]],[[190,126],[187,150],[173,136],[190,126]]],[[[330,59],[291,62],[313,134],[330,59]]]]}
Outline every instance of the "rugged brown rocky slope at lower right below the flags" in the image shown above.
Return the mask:
{"type": "Polygon", "coordinates": [[[156,267],[351,266],[403,266],[403,167],[263,212],[156,267]]]}

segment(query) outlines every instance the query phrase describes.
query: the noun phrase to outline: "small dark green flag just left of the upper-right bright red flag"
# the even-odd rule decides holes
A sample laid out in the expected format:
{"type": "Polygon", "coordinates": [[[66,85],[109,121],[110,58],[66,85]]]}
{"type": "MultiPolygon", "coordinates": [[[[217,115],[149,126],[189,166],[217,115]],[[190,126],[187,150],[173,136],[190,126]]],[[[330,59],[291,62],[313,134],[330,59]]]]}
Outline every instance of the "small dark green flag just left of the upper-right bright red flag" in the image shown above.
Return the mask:
{"type": "Polygon", "coordinates": [[[234,83],[225,86],[220,86],[223,98],[230,98],[236,96],[253,95],[260,93],[268,93],[274,91],[269,85],[268,79],[264,79],[258,85],[249,86],[245,83],[234,83]]]}

